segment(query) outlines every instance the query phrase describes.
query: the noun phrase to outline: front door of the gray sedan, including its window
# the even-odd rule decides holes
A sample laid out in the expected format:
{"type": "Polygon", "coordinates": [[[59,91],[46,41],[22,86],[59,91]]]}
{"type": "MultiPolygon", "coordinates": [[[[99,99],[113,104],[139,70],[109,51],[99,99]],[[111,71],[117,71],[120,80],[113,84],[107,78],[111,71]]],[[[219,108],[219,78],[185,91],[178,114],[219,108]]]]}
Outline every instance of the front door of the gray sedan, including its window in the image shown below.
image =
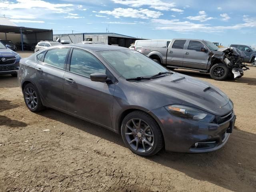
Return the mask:
{"type": "Polygon", "coordinates": [[[111,74],[94,55],[80,49],[70,53],[68,68],[63,77],[67,111],[111,127],[115,84],[90,80],[92,73],[111,74]]]}

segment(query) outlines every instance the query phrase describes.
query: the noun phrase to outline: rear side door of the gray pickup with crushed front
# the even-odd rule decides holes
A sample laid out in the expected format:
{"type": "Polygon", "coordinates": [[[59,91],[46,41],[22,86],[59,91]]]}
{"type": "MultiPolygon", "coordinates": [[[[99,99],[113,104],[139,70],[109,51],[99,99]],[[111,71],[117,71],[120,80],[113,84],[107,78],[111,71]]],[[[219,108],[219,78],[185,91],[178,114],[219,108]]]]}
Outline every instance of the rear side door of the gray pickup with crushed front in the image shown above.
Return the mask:
{"type": "Polygon", "coordinates": [[[183,66],[183,57],[184,57],[184,45],[186,40],[174,40],[173,44],[170,44],[166,64],[170,66],[183,66]]]}

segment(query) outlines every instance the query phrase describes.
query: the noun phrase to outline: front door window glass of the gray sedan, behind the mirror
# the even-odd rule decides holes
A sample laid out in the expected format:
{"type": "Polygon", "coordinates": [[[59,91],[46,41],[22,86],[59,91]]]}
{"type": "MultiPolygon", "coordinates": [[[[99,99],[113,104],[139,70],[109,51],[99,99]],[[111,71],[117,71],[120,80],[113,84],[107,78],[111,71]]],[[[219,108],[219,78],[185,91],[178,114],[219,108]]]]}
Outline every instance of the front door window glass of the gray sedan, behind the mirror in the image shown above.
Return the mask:
{"type": "Polygon", "coordinates": [[[106,73],[106,68],[92,54],[74,49],[70,60],[70,72],[90,78],[93,73],[106,73]]]}

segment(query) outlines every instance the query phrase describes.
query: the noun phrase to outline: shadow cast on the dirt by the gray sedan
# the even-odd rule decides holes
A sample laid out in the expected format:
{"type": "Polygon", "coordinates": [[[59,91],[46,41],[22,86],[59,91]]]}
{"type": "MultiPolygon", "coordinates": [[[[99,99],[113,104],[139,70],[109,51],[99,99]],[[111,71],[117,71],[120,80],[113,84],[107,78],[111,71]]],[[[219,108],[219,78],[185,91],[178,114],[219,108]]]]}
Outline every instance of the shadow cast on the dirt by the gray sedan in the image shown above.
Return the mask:
{"type": "MultiPolygon", "coordinates": [[[[106,128],[52,109],[39,114],[124,146],[121,136],[106,128]]],[[[236,129],[226,146],[218,151],[203,154],[182,154],[161,150],[148,159],[184,172],[197,180],[208,181],[228,190],[256,191],[255,148],[256,135],[236,129]],[[243,186],[247,187],[244,188],[243,186]]]]}

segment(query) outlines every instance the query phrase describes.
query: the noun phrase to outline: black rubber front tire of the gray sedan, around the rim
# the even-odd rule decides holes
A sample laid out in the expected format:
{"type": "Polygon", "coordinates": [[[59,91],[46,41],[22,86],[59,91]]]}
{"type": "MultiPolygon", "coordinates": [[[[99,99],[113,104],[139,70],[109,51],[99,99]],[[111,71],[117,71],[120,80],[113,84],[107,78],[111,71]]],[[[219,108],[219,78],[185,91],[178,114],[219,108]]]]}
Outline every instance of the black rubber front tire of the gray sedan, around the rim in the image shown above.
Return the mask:
{"type": "Polygon", "coordinates": [[[122,139],[123,139],[124,143],[126,144],[126,146],[133,153],[140,155],[140,156],[145,156],[145,157],[153,156],[159,150],[161,150],[161,148],[163,146],[163,136],[162,136],[162,132],[160,130],[158,123],[151,116],[149,116],[148,114],[146,114],[145,112],[142,112],[142,111],[131,112],[124,118],[124,120],[122,121],[122,125],[121,125],[121,135],[122,135],[122,139]],[[124,135],[124,126],[125,126],[126,122],[132,118],[140,118],[140,119],[144,120],[152,129],[152,132],[154,134],[154,145],[153,145],[152,149],[146,153],[137,152],[136,150],[131,148],[130,145],[128,144],[128,142],[126,141],[126,138],[124,135]]]}

